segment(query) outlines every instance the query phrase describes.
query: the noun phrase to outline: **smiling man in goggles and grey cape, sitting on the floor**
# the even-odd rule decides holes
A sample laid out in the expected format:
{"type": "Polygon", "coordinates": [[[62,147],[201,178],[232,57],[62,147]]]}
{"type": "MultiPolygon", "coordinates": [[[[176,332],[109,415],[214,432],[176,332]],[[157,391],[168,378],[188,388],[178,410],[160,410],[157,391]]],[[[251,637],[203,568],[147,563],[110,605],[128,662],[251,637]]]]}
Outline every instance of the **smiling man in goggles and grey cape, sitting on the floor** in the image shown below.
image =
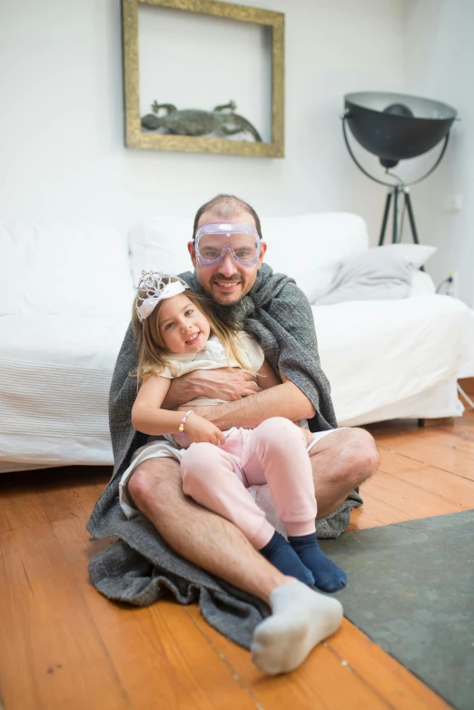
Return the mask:
{"type": "MultiPolygon", "coordinates": [[[[251,224],[262,240],[256,212],[232,195],[218,195],[201,207],[194,221],[193,238],[203,224],[222,221],[251,224]]],[[[227,242],[232,246],[232,234],[226,235],[222,244],[227,242]]],[[[212,299],[221,318],[240,321],[242,329],[259,340],[273,368],[281,374],[281,385],[258,391],[252,377],[242,371],[195,371],[173,380],[163,406],[175,409],[198,394],[222,399],[224,403],[220,405],[196,409],[222,430],[232,426],[253,428],[275,416],[292,421],[311,419],[310,428],[317,432],[318,439],[310,452],[318,514],[321,518],[330,516],[322,521],[322,533],[324,537],[337,537],[347,528],[351,507],[360,505],[353,489],[376,470],[379,457],[368,432],[335,429],[329,383],[319,363],[310,306],[293,281],[272,274],[269,267],[262,265],[266,248],[262,241],[259,259],[252,267],[236,261],[235,252],[228,247],[222,249],[211,266],[202,266],[195,243],[189,242],[195,272],[182,276],[192,288],[212,299]],[[341,504],[343,509],[334,514],[341,504]]],[[[114,477],[98,501],[88,528],[97,537],[119,535],[133,549],[142,551],[127,537],[130,528],[109,524],[113,518],[110,509],[116,490],[114,482],[130,462],[133,450],[144,443],[130,423],[136,383],[129,381],[132,379],[128,373],[133,370],[134,359],[129,329],[111,387],[114,477]],[[107,518],[107,524],[101,517],[107,518]]],[[[341,609],[334,606],[335,600],[315,596],[307,587],[304,593],[295,589],[295,583],[289,584],[290,578],[281,575],[256,552],[232,523],[183,495],[177,461],[163,458],[143,461],[134,471],[128,490],[136,508],[174,552],[272,606],[273,616],[257,627],[253,637],[253,657],[263,670],[281,673],[297,667],[311,647],[339,625],[341,609]],[[296,598],[300,593],[304,598],[296,598]]],[[[94,584],[101,589],[97,580],[94,584]]]]}

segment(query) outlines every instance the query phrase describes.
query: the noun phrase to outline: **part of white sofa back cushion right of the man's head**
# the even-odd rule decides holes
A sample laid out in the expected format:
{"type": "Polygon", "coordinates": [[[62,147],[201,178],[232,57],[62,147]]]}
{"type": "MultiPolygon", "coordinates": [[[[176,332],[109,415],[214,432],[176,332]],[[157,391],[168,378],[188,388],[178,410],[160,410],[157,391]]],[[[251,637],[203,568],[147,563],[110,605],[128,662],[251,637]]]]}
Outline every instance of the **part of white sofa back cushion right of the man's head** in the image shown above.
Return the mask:
{"type": "Polygon", "coordinates": [[[315,279],[330,283],[333,263],[369,248],[367,225],[351,212],[313,212],[262,219],[265,261],[293,279],[307,295],[315,279]],[[329,267],[329,270],[328,270],[329,267]]]}

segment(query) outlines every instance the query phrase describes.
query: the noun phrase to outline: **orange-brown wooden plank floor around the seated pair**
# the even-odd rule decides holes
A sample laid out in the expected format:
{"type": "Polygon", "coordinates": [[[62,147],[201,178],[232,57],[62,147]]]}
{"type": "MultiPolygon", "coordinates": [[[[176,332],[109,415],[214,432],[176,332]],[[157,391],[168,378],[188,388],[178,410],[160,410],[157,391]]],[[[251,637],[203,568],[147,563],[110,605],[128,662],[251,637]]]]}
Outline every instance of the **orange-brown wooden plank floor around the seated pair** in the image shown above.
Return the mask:
{"type": "MultiPolygon", "coordinates": [[[[373,425],[380,471],[351,529],[474,508],[474,412],[454,426],[373,425]]],[[[101,597],[85,530],[110,468],[0,478],[0,710],[440,710],[449,706],[344,620],[291,675],[262,675],[196,606],[101,597]]]]}

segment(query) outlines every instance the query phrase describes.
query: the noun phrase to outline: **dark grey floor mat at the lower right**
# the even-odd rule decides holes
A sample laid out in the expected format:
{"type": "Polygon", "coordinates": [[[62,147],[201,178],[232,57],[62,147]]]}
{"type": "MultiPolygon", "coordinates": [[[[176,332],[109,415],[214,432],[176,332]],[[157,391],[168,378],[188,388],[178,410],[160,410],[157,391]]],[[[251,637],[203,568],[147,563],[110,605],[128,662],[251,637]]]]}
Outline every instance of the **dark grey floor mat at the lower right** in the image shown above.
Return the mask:
{"type": "Polygon", "coordinates": [[[474,710],[474,510],[357,530],[321,549],[344,615],[458,710],[474,710]]]}

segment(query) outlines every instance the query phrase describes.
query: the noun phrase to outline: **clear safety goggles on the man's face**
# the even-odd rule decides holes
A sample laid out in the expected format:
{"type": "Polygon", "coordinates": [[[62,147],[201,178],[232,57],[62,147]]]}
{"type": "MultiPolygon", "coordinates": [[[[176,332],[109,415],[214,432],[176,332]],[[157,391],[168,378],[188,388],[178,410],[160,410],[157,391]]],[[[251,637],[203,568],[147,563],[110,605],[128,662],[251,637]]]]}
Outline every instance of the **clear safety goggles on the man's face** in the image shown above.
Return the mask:
{"type": "Polygon", "coordinates": [[[196,258],[200,266],[220,263],[226,252],[242,266],[255,266],[259,261],[262,242],[252,224],[215,222],[202,224],[194,237],[196,258]]]}

